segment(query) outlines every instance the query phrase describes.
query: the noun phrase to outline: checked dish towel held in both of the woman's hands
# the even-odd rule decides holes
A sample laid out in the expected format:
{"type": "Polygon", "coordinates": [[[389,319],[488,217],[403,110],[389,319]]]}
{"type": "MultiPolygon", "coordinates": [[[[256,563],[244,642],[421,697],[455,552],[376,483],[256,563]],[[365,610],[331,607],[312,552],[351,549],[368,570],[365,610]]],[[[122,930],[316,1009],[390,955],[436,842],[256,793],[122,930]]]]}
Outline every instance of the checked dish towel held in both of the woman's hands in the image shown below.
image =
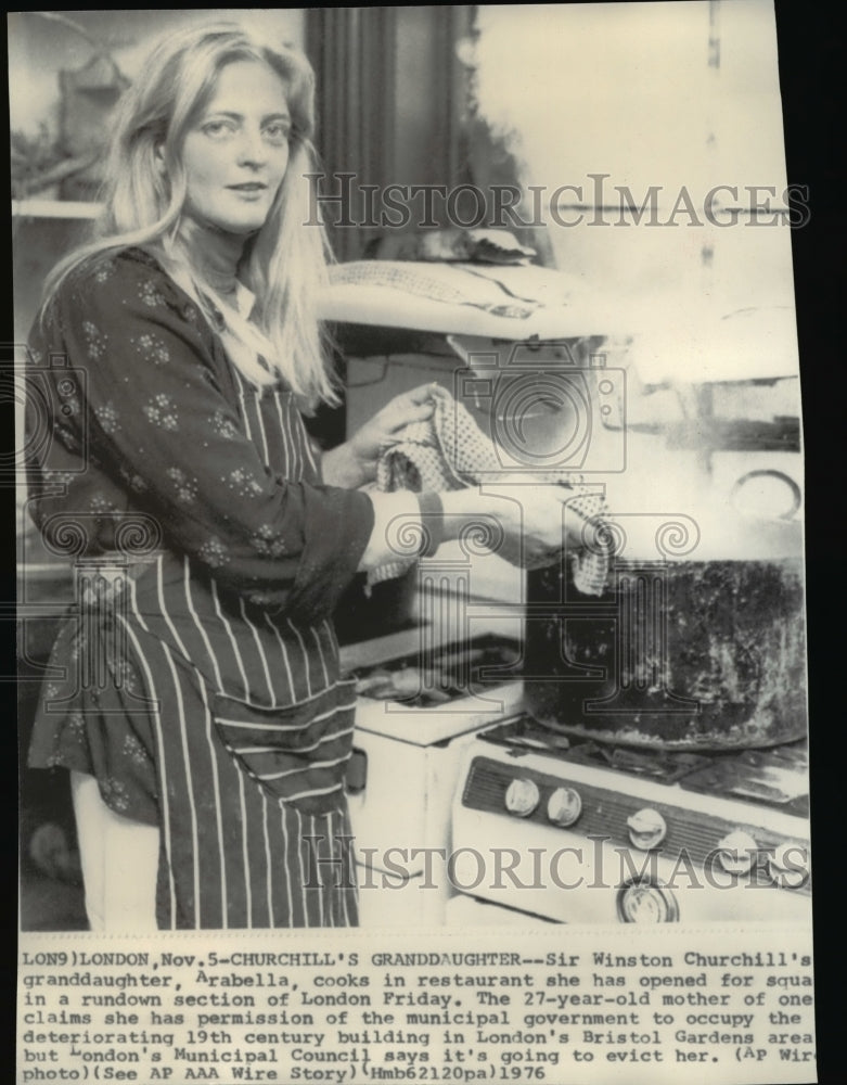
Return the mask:
{"type": "MultiPolygon", "coordinates": [[[[464,489],[479,483],[497,483],[510,474],[497,458],[492,442],[474,421],[467,408],[457,403],[450,393],[433,385],[432,398],[435,410],[423,422],[413,422],[401,431],[400,439],[380,456],[376,465],[375,488],[383,493],[398,489],[452,490],[464,489]]],[[[578,478],[580,476],[576,476],[578,478]]],[[[532,476],[527,475],[527,484],[532,476]]],[[[601,494],[577,482],[573,471],[546,471],[537,476],[542,485],[551,483],[566,487],[573,493],[568,507],[581,515],[587,524],[593,522],[592,549],[582,548],[568,552],[574,585],[583,595],[603,593],[608,574],[608,553],[602,546],[606,533],[602,531],[602,515],[605,502],[601,494]],[[598,524],[600,521],[600,524],[598,524]],[[598,529],[601,528],[601,529],[598,529]]],[[[568,548],[569,550],[569,548],[568,548]]],[[[497,547],[499,553],[513,565],[524,569],[541,569],[560,560],[562,548],[540,557],[528,559],[522,547],[503,544],[497,547]]],[[[402,576],[414,561],[398,560],[372,569],[368,573],[368,585],[402,576]]]]}

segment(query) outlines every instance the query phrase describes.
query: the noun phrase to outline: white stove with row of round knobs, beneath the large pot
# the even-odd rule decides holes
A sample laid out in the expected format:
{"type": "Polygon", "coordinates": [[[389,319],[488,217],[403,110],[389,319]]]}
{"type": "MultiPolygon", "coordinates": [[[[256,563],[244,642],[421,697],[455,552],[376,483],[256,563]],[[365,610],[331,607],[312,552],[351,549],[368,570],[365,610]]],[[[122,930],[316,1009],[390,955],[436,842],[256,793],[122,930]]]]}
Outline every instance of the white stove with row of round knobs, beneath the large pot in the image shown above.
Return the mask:
{"type": "Polygon", "coordinates": [[[465,749],[451,830],[449,923],[810,919],[805,741],[643,750],[517,714],[465,749]]]}

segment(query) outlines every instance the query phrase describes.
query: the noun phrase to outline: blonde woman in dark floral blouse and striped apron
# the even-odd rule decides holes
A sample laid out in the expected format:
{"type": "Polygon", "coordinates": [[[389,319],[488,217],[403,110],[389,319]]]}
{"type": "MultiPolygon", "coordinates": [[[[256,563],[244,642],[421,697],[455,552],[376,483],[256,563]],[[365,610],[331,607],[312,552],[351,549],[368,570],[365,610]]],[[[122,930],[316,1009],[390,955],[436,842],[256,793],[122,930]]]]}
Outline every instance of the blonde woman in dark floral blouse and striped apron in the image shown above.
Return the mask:
{"type": "Polygon", "coordinates": [[[429,548],[491,512],[561,544],[554,487],[523,509],[356,488],[425,388],[319,461],[312,118],[294,49],[235,24],[171,35],[123,103],[99,238],[34,330],[34,515],[54,549],[73,536],[80,583],[106,570],[59,634],[30,750],[72,771],[94,930],[355,924],[342,591],[394,556],[397,516],[425,519],[429,548]]]}

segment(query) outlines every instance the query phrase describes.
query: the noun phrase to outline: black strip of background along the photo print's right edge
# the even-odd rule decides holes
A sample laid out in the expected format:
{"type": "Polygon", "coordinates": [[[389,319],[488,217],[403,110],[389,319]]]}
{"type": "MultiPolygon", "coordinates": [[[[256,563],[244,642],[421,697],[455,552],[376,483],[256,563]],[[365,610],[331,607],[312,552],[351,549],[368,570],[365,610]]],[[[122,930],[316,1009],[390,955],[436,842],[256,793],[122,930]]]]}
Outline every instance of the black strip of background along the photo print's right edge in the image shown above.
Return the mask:
{"type": "Polygon", "coordinates": [[[834,1082],[844,1080],[845,1005],[844,937],[836,926],[843,922],[843,865],[840,858],[830,861],[840,856],[837,810],[844,789],[838,709],[845,673],[839,573],[845,380],[838,343],[845,285],[845,37],[843,26],[835,25],[823,7],[779,0],[775,10],[788,181],[808,184],[811,206],[809,224],[794,231],[792,244],[806,451],[816,1014],[820,1081],[834,1082]]]}

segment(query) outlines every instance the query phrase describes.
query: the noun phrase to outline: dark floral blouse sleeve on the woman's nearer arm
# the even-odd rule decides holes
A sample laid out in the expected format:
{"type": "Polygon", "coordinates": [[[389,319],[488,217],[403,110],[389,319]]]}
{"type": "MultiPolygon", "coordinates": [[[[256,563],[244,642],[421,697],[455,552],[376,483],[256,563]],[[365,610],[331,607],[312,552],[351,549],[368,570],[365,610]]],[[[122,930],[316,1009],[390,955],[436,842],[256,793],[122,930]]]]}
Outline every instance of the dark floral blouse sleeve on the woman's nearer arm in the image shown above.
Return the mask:
{"type": "Polygon", "coordinates": [[[60,291],[69,359],[86,371],[89,449],[131,480],[167,545],[221,585],[329,615],[373,526],[363,493],[275,475],[224,394],[222,352],[185,295],[128,258],[60,291]]]}

